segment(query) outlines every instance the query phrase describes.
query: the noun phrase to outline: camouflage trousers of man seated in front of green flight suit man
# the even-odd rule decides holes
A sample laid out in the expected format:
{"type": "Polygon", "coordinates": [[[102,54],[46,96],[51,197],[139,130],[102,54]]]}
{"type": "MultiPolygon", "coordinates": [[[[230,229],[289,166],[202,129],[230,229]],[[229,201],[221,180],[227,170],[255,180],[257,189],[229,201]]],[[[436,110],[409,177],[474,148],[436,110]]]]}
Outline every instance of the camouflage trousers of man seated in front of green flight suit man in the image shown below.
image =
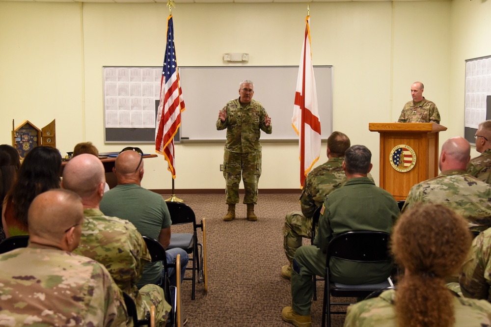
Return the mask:
{"type": "MultiPolygon", "coordinates": [[[[315,230],[317,232],[318,226],[315,230]]],[[[293,262],[295,251],[302,245],[302,237],[312,237],[312,218],[306,218],[300,211],[292,211],[285,217],[283,225],[283,249],[290,262],[293,262]]]]}

